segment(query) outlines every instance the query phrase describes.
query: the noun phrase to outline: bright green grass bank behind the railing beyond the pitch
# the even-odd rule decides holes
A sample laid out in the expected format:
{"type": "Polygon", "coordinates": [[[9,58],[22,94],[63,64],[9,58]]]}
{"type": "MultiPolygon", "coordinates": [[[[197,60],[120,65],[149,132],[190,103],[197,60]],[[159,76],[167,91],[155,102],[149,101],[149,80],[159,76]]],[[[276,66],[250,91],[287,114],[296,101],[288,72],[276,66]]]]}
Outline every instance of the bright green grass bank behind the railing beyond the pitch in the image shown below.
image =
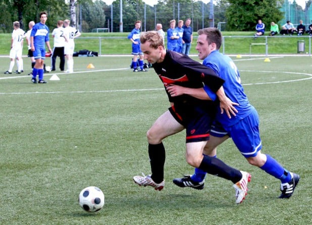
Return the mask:
{"type": "MultiPolygon", "coordinates": [[[[51,33],[52,31],[50,31],[51,33]]],[[[225,36],[225,54],[248,54],[250,53],[250,43],[265,43],[265,36],[254,39],[254,32],[230,32],[224,31],[222,35],[225,36]]],[[[268,32],[266,34],[269,34],[268,32]]],[[[0,55],[9,55],[11,46],[11,35],[9,33],[0,34],[0,55]]],[[[190,54],[197,54],[195,50],[197,32],[194,32],[194,41],[190,54]]],[[[131,54],[131,42],[127,39],[128,32],[124,33],[82,33],[80,37],[75,39],[75,51],[90,50],[93,52],[101,53],[101,55],[130,55],[131,54]],[[102,37],[99,41],[98,37],[102,37]],[[100,46],[100,47],[99,47],[100,46]],[[101,51],[99,52],[99,48],[101,51]]],[[[309,53],[309,40],[310,36],[282,36],[276,35],[273,37],[268,36],[268,54],[297,54],[297,41],[305,41],[305,52],[300,54],[309,53]]],[[[50,34],[50,46],[53,48],[54,38],[50,34]]],[[[166,39],[167,46],[167,39],[166,39]]],[[[27,42],[24,40],[23,54],[27,55],[27,42]]],[[[221,47],[223,52],[223,46],[221,47]]],[[[266,54],[266,48],[264,45],[252,46],[252,54],[266,54]]]]}

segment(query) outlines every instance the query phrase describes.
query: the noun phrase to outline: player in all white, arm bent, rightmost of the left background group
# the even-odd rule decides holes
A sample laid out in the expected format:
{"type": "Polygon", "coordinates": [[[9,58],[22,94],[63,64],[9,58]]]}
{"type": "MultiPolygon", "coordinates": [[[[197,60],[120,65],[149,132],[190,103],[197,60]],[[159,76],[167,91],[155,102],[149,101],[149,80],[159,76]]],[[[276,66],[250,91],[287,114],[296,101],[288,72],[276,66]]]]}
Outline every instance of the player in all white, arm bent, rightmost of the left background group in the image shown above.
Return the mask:
{"type": "Polygon", "coordinates": [[[74,50],[75,50],[75,38],[79,37],[81,33],[75,27],[70,26],[69,20],[64,20],[64,34],[66,36],[67,43],[65,44],[64,54],[67,60],[66,73],[74,72],[74,50]]]}

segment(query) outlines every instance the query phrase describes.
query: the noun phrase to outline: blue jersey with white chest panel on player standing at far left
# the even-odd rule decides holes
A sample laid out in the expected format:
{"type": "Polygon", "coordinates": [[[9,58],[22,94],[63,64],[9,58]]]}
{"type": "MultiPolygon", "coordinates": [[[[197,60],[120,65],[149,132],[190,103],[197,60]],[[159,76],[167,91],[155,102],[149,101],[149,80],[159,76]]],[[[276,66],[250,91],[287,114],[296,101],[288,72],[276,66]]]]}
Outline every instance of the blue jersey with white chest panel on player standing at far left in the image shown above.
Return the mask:
{"type": "Polygon", "coordinates": [[[36,23],[31,30],[30,36],[34,37],[35,49],[45,48],[45,42],[49,41],[49,28],[42,23],[36,23]]]}

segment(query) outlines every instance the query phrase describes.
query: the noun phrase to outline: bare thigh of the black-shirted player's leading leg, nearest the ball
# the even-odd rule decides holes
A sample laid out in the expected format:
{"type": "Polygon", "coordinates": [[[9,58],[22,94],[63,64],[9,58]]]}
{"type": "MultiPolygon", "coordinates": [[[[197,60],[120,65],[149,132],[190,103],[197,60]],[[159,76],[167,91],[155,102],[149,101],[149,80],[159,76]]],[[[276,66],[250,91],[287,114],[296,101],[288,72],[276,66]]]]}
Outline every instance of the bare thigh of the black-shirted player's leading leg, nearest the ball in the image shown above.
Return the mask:
{"type": "Polygon", "coordinates": [[[161,115],[147,131],[147,139],[150,144],[158,144],[164,138],[178,133],[184,129],[168,111],[161,115]]]}

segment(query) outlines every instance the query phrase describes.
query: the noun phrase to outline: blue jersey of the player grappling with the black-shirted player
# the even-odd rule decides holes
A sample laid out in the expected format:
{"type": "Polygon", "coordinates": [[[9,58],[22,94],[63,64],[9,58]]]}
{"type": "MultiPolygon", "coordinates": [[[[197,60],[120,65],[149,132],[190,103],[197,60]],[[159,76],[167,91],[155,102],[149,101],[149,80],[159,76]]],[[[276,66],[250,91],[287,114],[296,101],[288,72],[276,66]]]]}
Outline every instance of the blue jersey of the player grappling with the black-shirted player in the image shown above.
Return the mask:
{"type": "Polygon", "coordinates": [[[203,65],[213,69],[219,77],[225,80],[223,88],[226,96],[232,102],[239,104],[235,106],[238,113],[236,113],[236,116],[232,116],[231,119],[226,113],[221,114],[221,109],[218,107],[216,120],[224,127],[228,127],[248,116],[252,112],[253,107],[244,93],[240,75],[233,60],[216,50],[203,60],[203,65]]]}

